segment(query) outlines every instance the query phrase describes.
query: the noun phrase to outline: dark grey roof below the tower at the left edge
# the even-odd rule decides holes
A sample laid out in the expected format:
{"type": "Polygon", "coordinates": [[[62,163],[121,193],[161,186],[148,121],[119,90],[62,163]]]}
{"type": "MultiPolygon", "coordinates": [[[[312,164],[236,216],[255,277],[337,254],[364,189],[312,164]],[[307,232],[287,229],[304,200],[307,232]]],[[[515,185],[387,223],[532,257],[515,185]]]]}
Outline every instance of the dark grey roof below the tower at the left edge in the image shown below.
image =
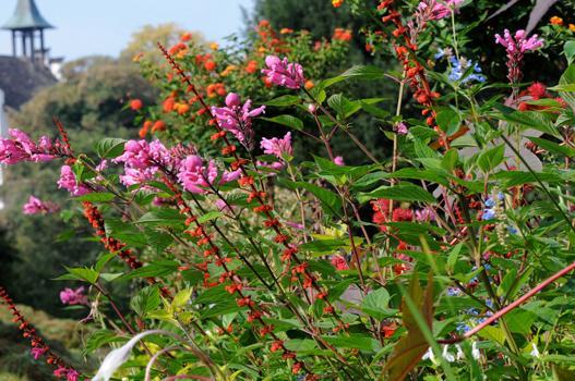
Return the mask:
{"type": "Polygon", "coordinates": [[[19,109],[41,87],[56,83],[52,73],[29,60],[0,56],[0,88],[5,95],[5,105],[19,109]]]}

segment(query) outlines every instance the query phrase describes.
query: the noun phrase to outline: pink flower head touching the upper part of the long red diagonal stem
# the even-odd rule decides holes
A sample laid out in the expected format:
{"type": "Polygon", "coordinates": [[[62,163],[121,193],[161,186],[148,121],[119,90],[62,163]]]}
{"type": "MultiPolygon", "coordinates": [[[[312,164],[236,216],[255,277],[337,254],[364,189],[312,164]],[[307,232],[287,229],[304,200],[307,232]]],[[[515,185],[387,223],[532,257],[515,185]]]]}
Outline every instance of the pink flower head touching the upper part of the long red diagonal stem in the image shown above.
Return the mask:
{"type": "Polygon", "coordinates": [[[245,148],[252,150],[254,137],[252,119],[264,113],[265,106],[252,109],[250,99],[242,107],[240,103],[240,97],[236,93],[230,93],[226,97],[227,107],[213,107],[212,113],[221,128],[232,133],[245,148]]]}

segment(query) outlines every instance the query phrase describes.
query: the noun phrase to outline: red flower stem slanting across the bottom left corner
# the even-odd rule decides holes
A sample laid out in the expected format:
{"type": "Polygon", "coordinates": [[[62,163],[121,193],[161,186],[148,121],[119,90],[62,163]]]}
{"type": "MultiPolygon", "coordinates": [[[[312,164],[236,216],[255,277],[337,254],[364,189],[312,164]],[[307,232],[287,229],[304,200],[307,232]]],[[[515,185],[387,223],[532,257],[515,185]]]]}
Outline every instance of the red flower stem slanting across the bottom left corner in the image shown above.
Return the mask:
{"type": "Polygon", "coordinates": [[[67,381],[77,381],[80,372],[73,367],[65,364],[58,355],[56,355],[51,348],[41,339],[36,329],[26,321],[22,312],[14,305],[14,300],[10,297],[8,292],[0,286],[0,299],[1,304],[8,307],[12,314],[13,321],[19,324],[19,330],[22,332],[22,336],[29,340],[32,346],[31,354],[35,359],[40,357],[46,358],[46,364],[56,367],[55,376],[59,379],[67,379],[67,381]]]}

